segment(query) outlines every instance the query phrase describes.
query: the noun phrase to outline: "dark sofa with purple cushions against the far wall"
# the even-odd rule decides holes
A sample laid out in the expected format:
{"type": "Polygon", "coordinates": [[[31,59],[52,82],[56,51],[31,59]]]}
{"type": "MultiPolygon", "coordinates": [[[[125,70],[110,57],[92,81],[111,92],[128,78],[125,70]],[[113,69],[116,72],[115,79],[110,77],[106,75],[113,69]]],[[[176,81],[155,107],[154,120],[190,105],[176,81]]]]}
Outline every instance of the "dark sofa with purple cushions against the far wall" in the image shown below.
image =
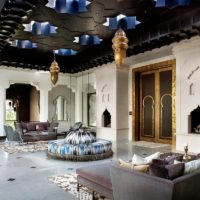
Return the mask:
{"type": "Polygon", "coordinates": [[[58,123],[49,122],[16,122],[15,130],[23,142],[56,140],[58,123]]]}

